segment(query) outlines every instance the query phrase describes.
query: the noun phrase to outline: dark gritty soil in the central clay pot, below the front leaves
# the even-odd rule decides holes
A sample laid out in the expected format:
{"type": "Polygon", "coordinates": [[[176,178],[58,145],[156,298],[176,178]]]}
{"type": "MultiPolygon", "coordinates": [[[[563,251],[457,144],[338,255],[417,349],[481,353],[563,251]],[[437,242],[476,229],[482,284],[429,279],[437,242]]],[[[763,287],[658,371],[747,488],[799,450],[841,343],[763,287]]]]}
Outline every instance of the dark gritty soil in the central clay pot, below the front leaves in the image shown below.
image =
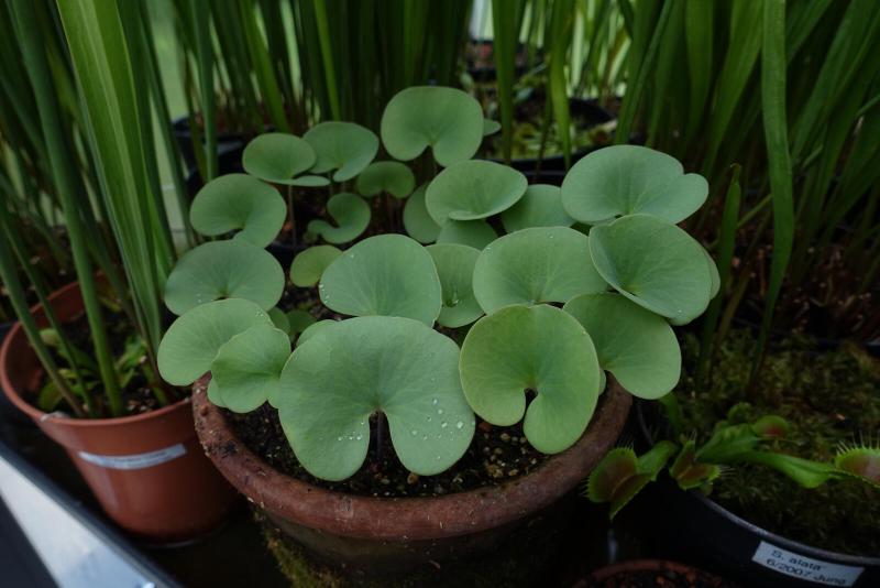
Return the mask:
{"type": "MultiPolygon", "coordinates": [[[[548,456],[526,440],[521,426],[495,427],[480,422],[474,439],[464,456],[449,470],[437,476],[418,476],[407,470],[384,435],[381,460],[375,455],[375,433],[370,453],[358,472],[341,482],[328,482],[311,476],[297,461],[284,436],[278,413],[268,404],[246,414],[224,411],[235,435],[253,453],[282,473],[327,490],[372,497],[437,497],[497,486],[525,476],[548,456]]],[[[375,432],[375,416],[371,418],[375,432]]]]}

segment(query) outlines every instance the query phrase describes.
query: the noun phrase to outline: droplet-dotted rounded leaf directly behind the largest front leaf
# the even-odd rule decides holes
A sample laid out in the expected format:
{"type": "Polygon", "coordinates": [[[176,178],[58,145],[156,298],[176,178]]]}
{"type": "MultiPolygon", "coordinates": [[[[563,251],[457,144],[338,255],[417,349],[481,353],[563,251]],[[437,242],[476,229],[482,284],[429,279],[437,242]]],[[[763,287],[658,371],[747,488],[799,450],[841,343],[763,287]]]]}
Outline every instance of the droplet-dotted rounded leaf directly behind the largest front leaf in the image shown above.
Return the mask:
{"type": "Polygon", "coordinates": [[[403,235],[380,235],[350,248],[324,270],[318,291],[324,306],[344,315],[404,316],[428,326],[440,315],[433,260],[403,235]]]}

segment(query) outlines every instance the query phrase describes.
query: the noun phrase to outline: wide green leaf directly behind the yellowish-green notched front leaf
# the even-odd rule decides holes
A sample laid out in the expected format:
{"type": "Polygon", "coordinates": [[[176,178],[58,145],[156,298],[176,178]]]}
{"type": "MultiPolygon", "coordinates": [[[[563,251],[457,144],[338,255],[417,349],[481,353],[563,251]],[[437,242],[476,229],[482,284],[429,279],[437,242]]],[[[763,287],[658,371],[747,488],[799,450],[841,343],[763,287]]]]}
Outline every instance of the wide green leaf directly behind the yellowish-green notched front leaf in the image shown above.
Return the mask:
{"type": "Polygon", "coordinates": [[[474,294],[486,314],[509,304],[565,303],[606,287],[590,260],[590,239],[566,227],[505,235],[474,268],[474,294]]]}

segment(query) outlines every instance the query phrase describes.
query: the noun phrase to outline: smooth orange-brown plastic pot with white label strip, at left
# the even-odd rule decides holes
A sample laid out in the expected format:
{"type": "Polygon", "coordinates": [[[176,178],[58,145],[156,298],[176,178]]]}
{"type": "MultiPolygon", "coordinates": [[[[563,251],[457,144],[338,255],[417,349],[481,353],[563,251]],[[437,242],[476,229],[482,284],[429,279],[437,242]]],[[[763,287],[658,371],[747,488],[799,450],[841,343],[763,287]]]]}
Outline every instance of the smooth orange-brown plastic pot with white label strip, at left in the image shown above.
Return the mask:
{"type": "MultiPolygon", "coordinates": [[[[76,283],[50,296],[58,319],[82,314],[76,283]]],[[[32,309],[40,326],[45,315],[32,309]]],[[[179,542],[212,531],[235,492],[205,458],[193,428],[189,399],[134,416],[82,420],[46,414],[25,398],[35,394],[43,369],[20,324],[0,348],[0,384],[9,400],[58,443],[107,514],[153,542],[179,542]]]]}

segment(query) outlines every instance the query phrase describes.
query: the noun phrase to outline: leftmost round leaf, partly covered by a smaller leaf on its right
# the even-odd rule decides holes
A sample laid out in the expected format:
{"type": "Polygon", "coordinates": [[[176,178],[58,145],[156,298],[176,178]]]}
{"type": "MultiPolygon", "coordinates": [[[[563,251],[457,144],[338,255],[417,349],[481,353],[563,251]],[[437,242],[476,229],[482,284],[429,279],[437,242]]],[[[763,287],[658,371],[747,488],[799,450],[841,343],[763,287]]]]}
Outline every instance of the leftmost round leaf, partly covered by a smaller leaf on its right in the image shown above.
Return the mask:
{"type": "Polygon", "coordinates": [[[158,344],[158,371],[174,385],[187,385],[211,369],[217,350],[254,325],[272,326],[260,306],[242,298],[215,301],[178,317],[158,344]]]}

